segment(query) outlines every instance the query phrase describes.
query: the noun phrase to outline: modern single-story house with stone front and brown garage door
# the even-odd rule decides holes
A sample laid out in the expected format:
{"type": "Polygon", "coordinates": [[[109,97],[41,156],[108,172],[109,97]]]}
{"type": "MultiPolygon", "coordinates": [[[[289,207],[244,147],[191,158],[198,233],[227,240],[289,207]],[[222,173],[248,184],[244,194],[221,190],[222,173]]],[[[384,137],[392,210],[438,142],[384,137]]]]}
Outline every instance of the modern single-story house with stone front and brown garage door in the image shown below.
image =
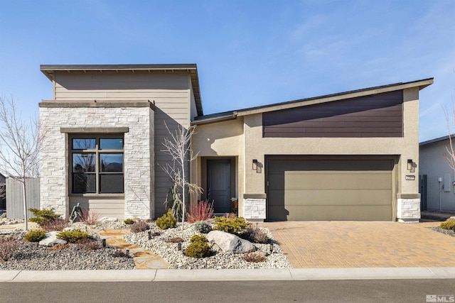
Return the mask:
{"type": "MultiPolygon", "coordinates": [[[[164,122],[196,127],[191,182],[250,220],[417,221],[419,90],[433,79],[203,115],[196,65],[42,65],[41,206],[165,212],[164,122]]],[[[188,167],[190,168],[190,167],[188,167]]]]}

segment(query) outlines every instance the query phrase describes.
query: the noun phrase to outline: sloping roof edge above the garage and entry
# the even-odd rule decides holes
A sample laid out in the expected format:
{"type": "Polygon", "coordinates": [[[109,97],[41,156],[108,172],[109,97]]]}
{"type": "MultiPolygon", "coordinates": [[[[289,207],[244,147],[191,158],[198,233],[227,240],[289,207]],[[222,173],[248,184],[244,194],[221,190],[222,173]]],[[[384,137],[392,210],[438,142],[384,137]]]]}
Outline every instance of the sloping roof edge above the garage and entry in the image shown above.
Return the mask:
{"type": "Polygon", "coordinates": [[[381,85],[378,87],[368,87],[365,89],[355,89],[348,92],[340,92],[336,94],[326,94],[319,97],[310,97],[306,99],[297,99],[292,101],[284,101],[280,103],[262,105],[262,106],[255,106],[250,107],[247,109],[237,109],[235,111],[225,111],[219,114],[209,114],[206,116],[197,116],[193,124],[203,124],[203,123],[214,123],[218,122],[217,118],[220,119],[219,121],[225,121],[229,116],[232,119],[235,119],[237,116],[245,116],[249,114],[259,114],[268,111],[277,111],[279,109],[290,109],[300,106],[308,106],[311,104],[319,104],[328,101],[338,101],[343,99],[349,99],[353,97],[358,97],[360,95],[368,96],[373,94],[380,94],[381,92],[392,92],[395,90],[410,88],[410,87],[418,87],[420,89],[424,89],[425,87],[433,84],[434,78],[427,78],[421,79],[411,82],[398,82],[393,84],[381,85]]]}

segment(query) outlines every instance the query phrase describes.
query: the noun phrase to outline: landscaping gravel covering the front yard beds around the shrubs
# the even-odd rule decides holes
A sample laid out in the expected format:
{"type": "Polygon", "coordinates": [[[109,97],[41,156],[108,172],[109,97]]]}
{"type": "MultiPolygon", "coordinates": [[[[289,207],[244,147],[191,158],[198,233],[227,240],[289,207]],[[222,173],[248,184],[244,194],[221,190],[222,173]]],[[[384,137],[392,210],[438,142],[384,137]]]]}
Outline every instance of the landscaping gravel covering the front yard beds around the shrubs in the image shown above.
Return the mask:
{"type": "MultiPolygon", "coordinates": [[[[257,244],[255,246],[267,255],[264,262],[248,263],[242,260],[242,254],[223,253],[213,246],[213,255],[208,258],[188,258],[183,255],[183,250],[188,246],[189,239],[195,234],[201,234],[195,231],[190,224],[185,224],[183,231],[181,225],[177,228],[167,230],[159,229],[154,222],[149,223],[151,233],[161,233],[149,240],[149,232],[128,233],[125,241],[143,246],[151,250],[152,253],[161,255],[164,260],[171,264],[171,268],[291,268],[282,249],[273,240],[272,233],[267,228],[271,244],[257,244]],[[169,238],[181,237],[184,242],[181,243],[182,250],[178,250],[178,243],[166,242],[169,238]]],[[[103,229],[120,229],[129,228],[121,221],[105,221],[97,226],[86,226],[84,224],[73,224],[75,228],[81,228],[95,234],[103,229]]],[[[134,269],[133,258],[116,257],[114,253],[116,248],[107,246],[98,250],[84,251],[75,244],[70,244],[63,250],[50,250],[48,247],[39,246],[38,243],[28,243],[22,241],[23,231],[0,231],[1,237],[14,236],[20,242],[20,245],[14,256],[6,262],[0,262],[0,270],[131,270],[134,269]]],[[[98,241],[100,241],[98,237],[98,241]]],[[[101,243],[101,241],[100,241],[101,243]]]]}

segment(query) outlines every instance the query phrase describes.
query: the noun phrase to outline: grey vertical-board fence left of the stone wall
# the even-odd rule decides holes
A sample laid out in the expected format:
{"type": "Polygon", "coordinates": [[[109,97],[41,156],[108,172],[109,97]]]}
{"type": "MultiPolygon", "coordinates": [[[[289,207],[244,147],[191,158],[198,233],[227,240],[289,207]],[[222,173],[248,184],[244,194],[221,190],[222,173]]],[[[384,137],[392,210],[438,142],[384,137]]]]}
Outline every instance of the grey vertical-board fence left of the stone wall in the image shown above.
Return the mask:
{"type": "MultiPolygon", "coordinates": [[[[40,208],[40,180],[26,181],[27,208],[40,208]]],[[[11,178],[6,179],[6,216],[9,219],[23,219],[22,183],[11,178]]],[[[28,211],[28,218],[33,216],[28,211]]]]}

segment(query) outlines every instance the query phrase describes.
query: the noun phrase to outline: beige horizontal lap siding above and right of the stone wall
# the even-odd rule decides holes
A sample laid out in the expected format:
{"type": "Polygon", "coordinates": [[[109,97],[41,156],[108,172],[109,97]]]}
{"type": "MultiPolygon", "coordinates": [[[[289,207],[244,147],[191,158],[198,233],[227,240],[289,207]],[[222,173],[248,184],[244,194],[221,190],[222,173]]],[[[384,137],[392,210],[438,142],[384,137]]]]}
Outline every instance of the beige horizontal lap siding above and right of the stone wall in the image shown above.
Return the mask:
{"type": "MultiPolygon", "coordinates": [[[[164,200],[171,182],[161,166],[171,163],[162,152],[168,131],[190,126],[191,79],[187,72],[71,72],[55,75],[55,100],[150,100],[155,104],[154,153],[155,217],[164,214],[164,200]]],[[[196,104],[194,106],[196,108],[196,104]]],[[[195,110],[195,109],[193,109],[195,110]]],[[[189,164],[186,167],[189,178],[189,164]]]]}

